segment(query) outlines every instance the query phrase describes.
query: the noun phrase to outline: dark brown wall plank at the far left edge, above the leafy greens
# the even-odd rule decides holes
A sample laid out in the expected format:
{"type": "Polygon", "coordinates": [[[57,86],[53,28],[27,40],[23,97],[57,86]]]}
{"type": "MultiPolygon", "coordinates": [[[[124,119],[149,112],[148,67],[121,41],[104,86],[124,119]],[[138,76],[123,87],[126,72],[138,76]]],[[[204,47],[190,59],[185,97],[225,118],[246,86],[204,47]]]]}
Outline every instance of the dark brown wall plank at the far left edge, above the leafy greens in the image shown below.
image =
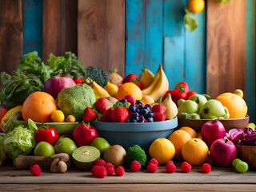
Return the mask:
{"type": "Polygon", "coordinates": [[[22,54],[22,1],[0,0],[0,72],[16,70],[22,54]]]}

